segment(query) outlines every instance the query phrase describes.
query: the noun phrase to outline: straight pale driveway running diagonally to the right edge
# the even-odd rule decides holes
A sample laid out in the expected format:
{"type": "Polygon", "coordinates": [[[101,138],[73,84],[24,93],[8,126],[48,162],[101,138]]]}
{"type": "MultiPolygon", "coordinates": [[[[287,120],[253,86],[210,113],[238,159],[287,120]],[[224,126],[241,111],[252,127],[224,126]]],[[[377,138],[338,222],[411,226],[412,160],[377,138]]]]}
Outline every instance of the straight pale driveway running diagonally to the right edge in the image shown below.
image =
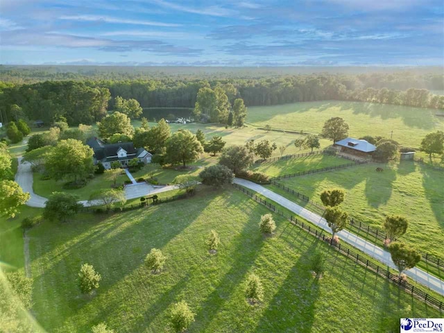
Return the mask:
{"type": "MultiPolygon", "coordinates": [[[[288,210],[290,210],[291,212],[298,214],[299,216],[302,216],[307,221],[310,221],[311,223],[318,225],[318,227],[320,228],[323,228],[323,230],[330,233],[332,232],[330,227],[327,225],[327,221],[325,221],[325,219],[323,219],[321,216],[315,214],[314,212],[310,212],[309,210],[306,210],[303,207],[300,207],[300,205],[296,205],[296,203],[293,203],[293,201],[284,198],[280,194],[270,191],[269,189],[266,189],[262,185],[250,182],[249,180],[234,178],[234,182],[238,185],[247,187],[248,189],[251,189],[259,194],[262,194],[262,196],[265,196],[270,200],[275,201],[275,203],[278,203],[282,207],[285,207],[288,210]]],[[[374,244],[366,241],[365,239],[362,239],[361,237],[358,237],[356,234],[353,234],[352,232],[348,232],[347,230],[341,230],[336,234],[346,243],[354,246],[355,248],[366,253],[367,255],[370,255],[370,257],[377,259],[379,262],[382,262],[382,264],[398,270],[395,264],[393,264],[391,260],[391,255],[390,253],[388,253],[388,251],[379,248],[378,246],[375,246],[374,244]]],[[[408,271],[405,271],[405,274],[409,276],[409,278],[415,280],[416,282],[422,284],[423,286],[428,287],[429,289],[432,289],[433,291],[436,291],[437,293],[440,293],[441,295],[444,296],[444,282],[441,281],[439,278],[436,278],[436,276],[431,275],[425,271],[422,271],[422,269],[416,267],[411,268],[408,271]]]]}

